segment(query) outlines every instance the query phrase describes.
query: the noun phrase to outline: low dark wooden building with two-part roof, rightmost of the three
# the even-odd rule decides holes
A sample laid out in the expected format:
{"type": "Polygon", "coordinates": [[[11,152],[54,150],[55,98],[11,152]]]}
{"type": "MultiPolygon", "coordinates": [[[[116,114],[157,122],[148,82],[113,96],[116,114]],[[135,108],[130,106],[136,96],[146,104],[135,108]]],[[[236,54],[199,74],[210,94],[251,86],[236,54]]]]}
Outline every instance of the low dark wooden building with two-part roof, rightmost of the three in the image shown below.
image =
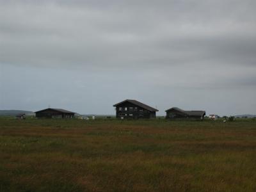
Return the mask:
{"type": "Polygon", "coordinates": [[[184,111],[180,108],[166,110],[166,118],[200,118],[203,119],[205,111],[184,111]]]}

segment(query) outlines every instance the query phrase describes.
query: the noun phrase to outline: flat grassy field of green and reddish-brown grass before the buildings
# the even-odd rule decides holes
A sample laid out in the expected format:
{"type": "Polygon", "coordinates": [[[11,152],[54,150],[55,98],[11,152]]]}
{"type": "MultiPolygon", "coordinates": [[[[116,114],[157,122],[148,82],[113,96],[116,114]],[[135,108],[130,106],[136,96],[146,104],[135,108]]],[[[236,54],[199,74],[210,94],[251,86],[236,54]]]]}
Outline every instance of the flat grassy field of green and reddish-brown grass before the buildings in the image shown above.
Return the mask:
{"type": "Polygon", "coordinates": [[[0,191],[256,191],[256,121],[0,118],[0,191]]]}

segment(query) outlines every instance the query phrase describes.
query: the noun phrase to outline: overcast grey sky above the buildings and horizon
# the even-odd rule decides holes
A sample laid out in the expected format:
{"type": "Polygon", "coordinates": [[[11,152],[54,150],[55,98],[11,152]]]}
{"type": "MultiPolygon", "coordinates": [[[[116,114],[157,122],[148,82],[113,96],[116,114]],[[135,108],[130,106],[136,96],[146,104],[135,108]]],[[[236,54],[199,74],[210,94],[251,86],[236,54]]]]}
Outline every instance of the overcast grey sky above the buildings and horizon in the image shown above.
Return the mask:
{"type": "Polygon", "coordinates": [[[0,0],[0,109],[256,114],[255,0],[0,0]]]}

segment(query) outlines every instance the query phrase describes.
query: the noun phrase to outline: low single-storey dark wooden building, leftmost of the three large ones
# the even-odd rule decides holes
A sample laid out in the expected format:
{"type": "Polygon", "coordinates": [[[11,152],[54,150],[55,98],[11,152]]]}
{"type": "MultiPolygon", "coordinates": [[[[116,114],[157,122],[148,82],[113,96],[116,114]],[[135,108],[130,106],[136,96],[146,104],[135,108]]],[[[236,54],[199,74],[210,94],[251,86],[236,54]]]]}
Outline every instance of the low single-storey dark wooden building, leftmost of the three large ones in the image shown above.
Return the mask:
{"type": "Polygon", "coordinates": [[[75,113],[67,111],[65,109],[43,109],[36,111],[36,117],[38,118],[74,118],[75,113]]]}

